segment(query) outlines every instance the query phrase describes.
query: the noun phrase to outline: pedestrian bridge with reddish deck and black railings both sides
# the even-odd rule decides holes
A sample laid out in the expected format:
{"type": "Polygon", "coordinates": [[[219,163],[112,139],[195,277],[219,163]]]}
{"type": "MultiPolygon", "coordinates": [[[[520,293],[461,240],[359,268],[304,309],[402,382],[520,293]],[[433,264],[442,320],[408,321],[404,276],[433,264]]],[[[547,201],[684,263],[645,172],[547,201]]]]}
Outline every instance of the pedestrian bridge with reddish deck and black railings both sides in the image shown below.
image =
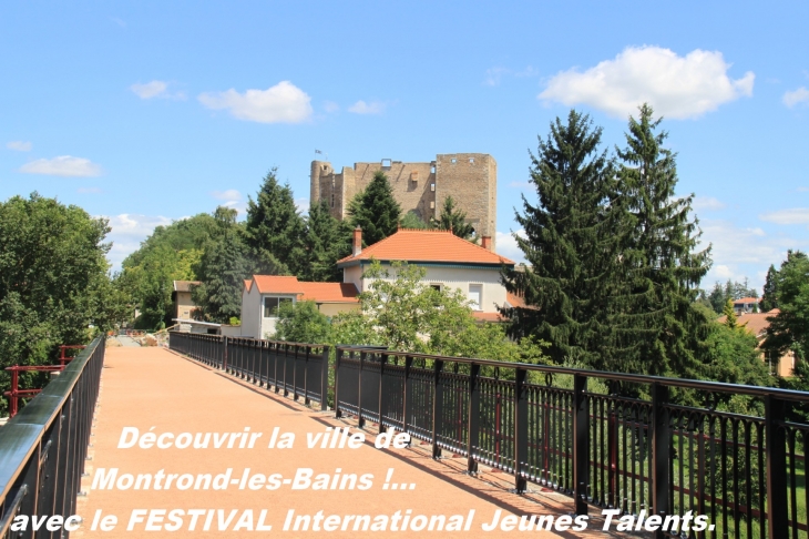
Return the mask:
{"type": "Polygon", "coordinates": [[[51,516],[76,515],[73,537],[622,537],[658,516],[686,537],[807,537],[809,427],[786,420],[806,401],[373,348],[96,340],[0,428],[0,532],[60,537],[51,516]],[[674,387],[766,414],[675,405],[674,387]]]}

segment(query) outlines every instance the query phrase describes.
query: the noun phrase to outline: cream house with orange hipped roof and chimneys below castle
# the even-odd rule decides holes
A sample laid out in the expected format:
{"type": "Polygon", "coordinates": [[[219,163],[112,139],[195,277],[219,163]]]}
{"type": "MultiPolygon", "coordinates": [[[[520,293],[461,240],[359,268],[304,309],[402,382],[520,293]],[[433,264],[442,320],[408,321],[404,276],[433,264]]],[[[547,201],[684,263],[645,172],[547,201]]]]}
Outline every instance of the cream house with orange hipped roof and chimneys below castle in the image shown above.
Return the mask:
{"type": "Polygon", "coordinates": [[[424,267],[424,282],[430,286],[461,289],[475,318],[500,322],[499,307],[522,305],[520,298],[506,293],[500,277],[503,266],[514,267],[514,262],[494,253],[489,236],[481,240],[478,245],[449,231],[402,228],[362,248],[362,231],[357,228],[352,254],[338,261],[337,266],[342,268],[344,283],[359,292],[368,288],[365,271],[373,260],[383,265],[402,261],[424,267]]]}

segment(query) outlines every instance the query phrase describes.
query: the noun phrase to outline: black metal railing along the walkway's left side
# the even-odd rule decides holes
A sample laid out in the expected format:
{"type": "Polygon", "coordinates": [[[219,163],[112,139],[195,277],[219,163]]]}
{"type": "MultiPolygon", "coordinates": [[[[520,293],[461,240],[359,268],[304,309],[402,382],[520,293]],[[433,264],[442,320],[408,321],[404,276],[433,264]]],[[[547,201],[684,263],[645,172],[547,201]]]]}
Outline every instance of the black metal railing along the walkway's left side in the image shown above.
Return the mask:
{"type": "MultiPolygon", "coordinates": [[[[76,356],[9,423],[0,427],[0,537],[16,516],[75,513],[104,363],[104,338],[76,356]]],[[[37,537],[69,537],[75,522],[37,537]]],[[[18,533],[13,533],[18,537],[18,533]]],[[[19,536],[22,537],[22,536],[19,536]]],[[[24,537],[33,537],[31,526],[24,537]]]]}

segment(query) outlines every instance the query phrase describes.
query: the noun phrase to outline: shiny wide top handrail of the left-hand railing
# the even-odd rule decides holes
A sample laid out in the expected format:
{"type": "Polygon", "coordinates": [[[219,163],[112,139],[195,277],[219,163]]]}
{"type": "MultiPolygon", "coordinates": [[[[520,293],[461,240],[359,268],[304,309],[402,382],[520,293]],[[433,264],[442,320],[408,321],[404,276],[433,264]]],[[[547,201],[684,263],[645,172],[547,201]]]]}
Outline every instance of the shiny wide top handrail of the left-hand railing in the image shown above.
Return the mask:
{"type": "Polygon", "coordinates": [[[42,436],[57,419],[88,360],[103,343],[104,336],[96,337],[68,364],[58,379],[49,383],[42,393],[0,428],[0,500],[9,495],[42,436]]]}

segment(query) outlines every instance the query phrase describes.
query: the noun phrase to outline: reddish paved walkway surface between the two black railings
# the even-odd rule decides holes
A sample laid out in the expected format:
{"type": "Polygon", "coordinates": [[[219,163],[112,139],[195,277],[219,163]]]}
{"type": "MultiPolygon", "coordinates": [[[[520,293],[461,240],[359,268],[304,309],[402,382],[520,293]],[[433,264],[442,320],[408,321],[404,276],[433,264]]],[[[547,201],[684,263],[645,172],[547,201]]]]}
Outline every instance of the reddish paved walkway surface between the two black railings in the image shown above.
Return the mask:
{"type": "MultiPolygon", "coordinates": [[[[185,535],[231,535],[249,533],[250,527],[258,527],[264,515],[264,525],[272,526],[272,531],[253,531],[255,533],[283,535],[284,537],[315,537],[327,535],[332,538],[342,537],[423,537],[424,533],[450,537],[516,537],[523,536],[518,529],[506,532],[500,529],[484,532],[481,527],[492,520],[498,510],[502,517],[516,515],[564,515],[570,508],[565,498],[552,495],[516,496],[508,492],[510,478],[504,475],[482,474],[471,478],[462,474],[462,460],[447,459],[434,461],[429,458],[429,446],[416,446],[401,450],[379,450],[372,446],[376,431],[367,433],[369,443],[358,449],[322,449],[307,448],[307,433],[317,435],[326,433],[327,427],[347,427],[349,423],[335,420],[332,414],[318,413],[305,408],[289,399],[269,394],[255,386],[195,362],[177,356],[162,348],[109,348],[103,370],[102,394],[100,398],[98,425],[92,438],[93,459],[88,462],[89,477],[86,487],[100,481],[101,469],[109,472],[119,469],[117,485],[112,489],[95,488],[80,501],[80,513],[84,518],[81,536],[99,537],[164,537],[168,528],[177,527],[171,537],[185,535]],[[154,433],[160,436],[172,433],[212,433],[211,447],[207,449],[157,447],[119,448],[124,427],[135,427],[141,434],[154,433]],[[268,448],[275,428],[280,433],[294,433],[291,449],[268,448]],[[262,436],[255,438],[254,447],[240,448],[242,438],[233,436],[233,447],[227,448],[231,436],[223,441],[222,448],[214,448],[215,434],[247,433],[262,436]],[[229,482],[225,488],[214,490],[213,484],[224,481],[224,475],[231,468],[229,482]],[[293,480],[300,468],[313,469],[313,480],[319,474],[328,475],[328,485],[337,489],[315,490],[313,488],[293,489],[291,484],[283,484],[277,489],[266,487],[267,476],[278,474],[281,480],[293,480]],[[388,470],[393,468],[392,481],[414,485],[414,489],[383,489],[388,470]],[[245,471],[249,469],[248,471],[245,471]],[[129,479],[150,474],[155,480],[163,470],[166,477],[161,478],[161,489],[124,489],[129,479]],[[204,489],[204,475],[209,474],[212,485],[204,489]],[[365,474],[371,474],[370,488],[361,490],[339,489],[334,482],[335,475],[356,474],[358,481],[365,474]],[[171,478],[171,487],[163,488],[171,478]],[[199,488],[195,489],[197,476],[199,488]],[[123,477],[122,477],[123,476],[123,477]],[[190,486],[188,486],[190,485],[190,486]],[[186,487],[187,488],[184,488],[186,487]],[[103,516],[117,517],[117,525],[107,532],[101,531],[101,519],[96,520],[96,529],[91,527],[98,510],[103,516]],[[144,515],[139,522],[131,522],[134,510],[143,509],[144,515]],[[146,531],[149,511],[152,510],[152,527],[161,531],[146,531]],[[156,510],[157,512],[154,512],[156,510]],[[165,510],[165,513],[161,513],[165,510]],[[176,519],[170,519],[172,510],[176,519]],[[190,510],[198,515],[193,517],[190,510]],[[211,511],[213,510],[213,511],[211,511]],[[294,530],[295,519],[289,530],[284,530],[288,511],[296,516],[310,516],[308,531],[294,530]],[[470,511],[474,515],[469,521],[470,511]],[[252,513],[250,513],[252,511],[252,513]],[[320,531],[315,531],[315,518],[318,511],[330,519],[319,521],[320,531]],[[401,517],[409,517],[414,528],[422,521],[429,522],[432,516],[443,516],[444,526],[460,521],[460,531],[392,531],[393,517],[397,511],[401,517]],[[233,516],[232,516],[233,515],[233,516]],[[355,531],[358,516],[387,516],[390,520],[386,531],[355,531]],[[231,517],[228,521],[228,517],[231,517]],[[350,516],[352,518],[347,518],[350,516]],[[424,516],[426,519],[417,518],[424,516]],[[192,521],[196,520],[191,531],[192,521]],[[206,525],[207,522],[207,525],[206,525]],[[127,527],[132,523],[132,530],[127,527]],[[223,526],[226,531],[218,531],[223,526]],[[469,526],[468,531],[463,527],[469,526]],[[207,531],[204,529],[207,527],[207,531]],[[344,531],[341,528],[346,528],[344,531]],[[238,530],[236,530],[238,528],[238,530]],[[326,531],[336,528],[334,531],[326,531]]],[[[350,428],[350,433],[358,433],[350,428]]],[[[178,440],[181,444],[187,438],[178,440]]],[[[164,438],[166,441],[167,438],[164,438]]],[[[248,445],[249,438],[245,438],[248,445]]],[[[305,475],[305,472],[303,472],[305,475]]],[[[145,479],[145,478],[143,478],[145,479]]],[[[272,478],[269,479],[272,480],[272,478]]],[[[304,482],[304,481],[301,481],[304,482]]],[[[324,482],[324,481],[321,481],[324,482]]],[[[361,481],[360,481],[361,482],[361,481]]],[[[96,484],[98,487],[98,484],[96,484]]],[[[359,482],[357,484],[359,487],[359,482]]],[[[379,517],[377,522],[383,520],[379,517]]],[[[438,521],[438,520],[437,520],[438,521]]],[[[363,520],[360,520],[363,523],[363,520]]],[[[399,521],[399,527],[403,522],[399,521]]],[[[428,523],[429,526],[429,523],[428,523]]],[[[537,532],[531,537],[603,537],[597,531],[601,525],[591,522],[586,532],[537,532]]]]}

